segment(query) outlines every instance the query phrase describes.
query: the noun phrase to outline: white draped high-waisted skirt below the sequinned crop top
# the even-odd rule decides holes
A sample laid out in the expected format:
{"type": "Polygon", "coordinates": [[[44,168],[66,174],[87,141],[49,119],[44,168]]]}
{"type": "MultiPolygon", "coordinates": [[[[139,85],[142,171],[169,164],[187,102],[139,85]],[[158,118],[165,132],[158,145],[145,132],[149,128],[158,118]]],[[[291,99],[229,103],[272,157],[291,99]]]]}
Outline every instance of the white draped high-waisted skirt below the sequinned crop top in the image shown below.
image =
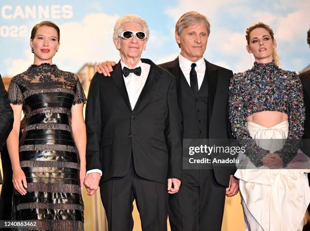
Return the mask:
{"type": "MultiPolygon", "coordinates": [[[[289,124],[285,121],[272,128],[265,128],[247,122],[247,128],[258,146],[273,153],[283,147],[289,124]],[[260,139],[275,140],[267,143],[266,140],[260,142],[260,139]]],[[[247,166],[252,164],[247,157],[243,158],[247,166]]],[[[260,169],[238,169],[235,176],[240,179],[246,230],[301,231],[304,213],[310,203],[307,172],[310,172],[308,167],[271,170],[262,166],[260,169]]]]}

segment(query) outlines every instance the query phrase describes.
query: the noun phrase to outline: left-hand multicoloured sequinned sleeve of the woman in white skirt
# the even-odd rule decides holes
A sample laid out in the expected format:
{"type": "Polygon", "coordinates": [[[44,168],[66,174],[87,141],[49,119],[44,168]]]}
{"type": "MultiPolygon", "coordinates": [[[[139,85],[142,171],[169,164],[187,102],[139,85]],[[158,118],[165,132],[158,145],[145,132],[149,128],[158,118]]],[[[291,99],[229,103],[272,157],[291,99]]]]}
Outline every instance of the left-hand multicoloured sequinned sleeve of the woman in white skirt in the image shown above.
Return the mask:
{"type": "Polygon", "coordinates": [[[246,127],[247,99],[244,98],[246,91],[245,77],[243,73],[234,75],[230,80],[229,86],[229,121],[231,124],[232,136],[237,138],[240,145],[246,148],[247,155],[251,162],[256,166],[262,166],[261,159],[268,153],[267,150],[257,146],[246,127]]]}

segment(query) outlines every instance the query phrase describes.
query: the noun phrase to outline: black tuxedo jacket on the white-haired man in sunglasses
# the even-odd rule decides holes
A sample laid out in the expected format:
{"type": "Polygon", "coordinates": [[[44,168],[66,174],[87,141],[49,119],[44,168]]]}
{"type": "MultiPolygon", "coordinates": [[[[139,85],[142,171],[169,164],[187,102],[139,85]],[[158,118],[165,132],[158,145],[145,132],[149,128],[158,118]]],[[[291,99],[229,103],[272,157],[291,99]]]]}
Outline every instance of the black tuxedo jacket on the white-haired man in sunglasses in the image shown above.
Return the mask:
{"type": "Polygon", "coordinates": [[[150,71],[132,110],[121,63],[111,77],[96,73],[86,105],[87,170],[100,169],[101,182],[125,176],[130,159],[145,179],[181,178],[182,117],[175,78],[148,59],[150,71]]]}

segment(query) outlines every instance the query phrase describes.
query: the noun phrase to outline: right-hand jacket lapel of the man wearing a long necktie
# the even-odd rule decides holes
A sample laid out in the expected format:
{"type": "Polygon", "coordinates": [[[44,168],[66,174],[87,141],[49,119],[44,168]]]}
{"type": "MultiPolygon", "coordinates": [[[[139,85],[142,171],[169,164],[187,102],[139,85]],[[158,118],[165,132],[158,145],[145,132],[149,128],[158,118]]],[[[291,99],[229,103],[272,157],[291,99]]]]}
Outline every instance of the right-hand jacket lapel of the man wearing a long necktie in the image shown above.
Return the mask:
{"type": "Polygon", "coordinates": [[[209,83],[208,84],[208,90],[209,90],[208,121],[210,123],[214,99],[215,99],[215,94],[216,94],[216,89],[217,89],[217,68],[213,67],[211,65],[211,63],[209,63],[207,60],[205,60],[205,62],[206,62],[206,72],[208,73],[207,78],[208,78],[208,83],[209,83]]]}

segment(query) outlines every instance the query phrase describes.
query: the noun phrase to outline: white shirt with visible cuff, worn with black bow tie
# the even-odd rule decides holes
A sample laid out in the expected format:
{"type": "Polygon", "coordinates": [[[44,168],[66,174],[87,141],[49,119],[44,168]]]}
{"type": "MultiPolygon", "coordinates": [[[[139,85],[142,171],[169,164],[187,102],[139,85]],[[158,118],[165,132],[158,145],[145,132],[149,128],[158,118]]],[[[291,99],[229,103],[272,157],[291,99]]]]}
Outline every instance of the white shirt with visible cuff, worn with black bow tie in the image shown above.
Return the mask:
{"type": "MultiPolygon", "coordinates": [[[[128,67],[122,60],[121,60],[121,66],[122,66],[122,70],[123,67],[126,66],[128,67]]],[[[134,67],[141,67],[141,75],[135,75],[134,73],[129,73],[129,75],[127,77],[125,77],[123,75],[124,81],[125,81],[125,86],[126,86],[126,90],[128,93],[128,97],[129,97],[129,101],[130,101],[130,105],[131,108],[134,109],[135,105],[138,101],[138,98],[140,96],[140,93],[145,85],[145,82],[147,80],[147,76],[150,70],[150,65],[147,63],[142,63],[142,61],[140,60],[138,62],[138,64],[134,67]]],[[[130,68],[129,69],[134,69],[134,68],[130,68]]],[[[100,173],[100,176],[102,176],[102,171],[99,169],[92,169],[86,172],[86,175],[89,173],[93,173],[93,172],[97,172],[100,173]]]]}

